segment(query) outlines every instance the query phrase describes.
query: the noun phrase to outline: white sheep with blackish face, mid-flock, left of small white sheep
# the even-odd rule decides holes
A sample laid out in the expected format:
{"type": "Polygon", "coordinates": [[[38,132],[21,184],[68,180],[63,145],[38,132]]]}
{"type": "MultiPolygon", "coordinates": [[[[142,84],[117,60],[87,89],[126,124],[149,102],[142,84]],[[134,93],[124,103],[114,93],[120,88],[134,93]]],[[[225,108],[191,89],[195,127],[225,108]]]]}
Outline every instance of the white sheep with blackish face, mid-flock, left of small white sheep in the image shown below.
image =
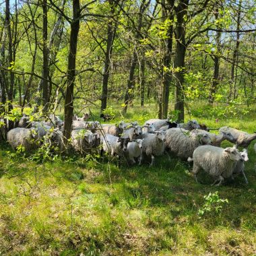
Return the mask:
{"type": "Polygon", "coordinates": [[[111,154],[111,156],[123,156],[123,152],[127,150],[127,144],[129,138],[119,138],[114,135],[106,134],[105,139],[103,139],[103,151],[111,154]]]}

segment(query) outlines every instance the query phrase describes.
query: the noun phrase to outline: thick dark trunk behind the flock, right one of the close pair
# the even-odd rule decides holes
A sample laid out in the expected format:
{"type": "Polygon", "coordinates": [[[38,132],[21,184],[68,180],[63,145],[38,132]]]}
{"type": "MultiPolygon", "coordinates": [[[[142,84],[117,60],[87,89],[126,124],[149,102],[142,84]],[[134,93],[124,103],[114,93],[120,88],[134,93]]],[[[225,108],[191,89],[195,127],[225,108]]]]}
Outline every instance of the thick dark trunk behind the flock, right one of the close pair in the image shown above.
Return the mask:
{"type": "Polygon", "coordinates": [[[174,59],[174,77],[176,79],[174,88],[174,110],[177,111],[178,122],[184,122],[184,74],[185,74],[185,21],[184,15],[187,13],[189,0],[179,1],[176,9],[177,24],[176,24],[176,51],[174,59]]]}

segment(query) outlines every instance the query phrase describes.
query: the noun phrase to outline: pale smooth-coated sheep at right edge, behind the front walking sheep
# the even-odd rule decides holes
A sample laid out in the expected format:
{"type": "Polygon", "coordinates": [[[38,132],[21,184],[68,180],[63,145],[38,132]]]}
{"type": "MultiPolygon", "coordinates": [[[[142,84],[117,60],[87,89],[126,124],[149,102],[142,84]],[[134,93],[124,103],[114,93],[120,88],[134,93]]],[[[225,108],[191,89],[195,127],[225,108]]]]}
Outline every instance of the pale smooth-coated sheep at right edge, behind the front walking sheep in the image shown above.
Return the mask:
{"type": "Polygon", "coordinates": [[[228,139],[228,141],[236,143],[236,147],[241,146],[243,148],[248,148],[251,141],[256,139],[256,133],[249,134],[245,131],[239,131],[227,126],[221,127],[220,131],[222,131],[222,133],[230,133],[234,139],[228,139]]]}

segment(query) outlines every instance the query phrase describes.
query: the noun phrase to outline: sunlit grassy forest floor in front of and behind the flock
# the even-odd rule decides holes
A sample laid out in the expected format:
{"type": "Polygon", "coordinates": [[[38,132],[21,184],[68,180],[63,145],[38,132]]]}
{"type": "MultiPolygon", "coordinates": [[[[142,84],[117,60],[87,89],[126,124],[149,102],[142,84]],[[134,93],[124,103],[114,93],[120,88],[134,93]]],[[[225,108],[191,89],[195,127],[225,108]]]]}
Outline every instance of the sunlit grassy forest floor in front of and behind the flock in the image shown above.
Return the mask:
{"type": "MultiPolygon", "coordinates": [[[[134,107],[125,119],[143,123],[152,109],[134,107]]],[[[214,115],[191,117],[255,131],[255,111],[214,115]]],[[[76,155],[38,162],[1,143],[0,255],[256,255],[255,162],[252,143],[249,184],[237,177],[211,187],[174,157],[152,167],[76,155]]]]}

